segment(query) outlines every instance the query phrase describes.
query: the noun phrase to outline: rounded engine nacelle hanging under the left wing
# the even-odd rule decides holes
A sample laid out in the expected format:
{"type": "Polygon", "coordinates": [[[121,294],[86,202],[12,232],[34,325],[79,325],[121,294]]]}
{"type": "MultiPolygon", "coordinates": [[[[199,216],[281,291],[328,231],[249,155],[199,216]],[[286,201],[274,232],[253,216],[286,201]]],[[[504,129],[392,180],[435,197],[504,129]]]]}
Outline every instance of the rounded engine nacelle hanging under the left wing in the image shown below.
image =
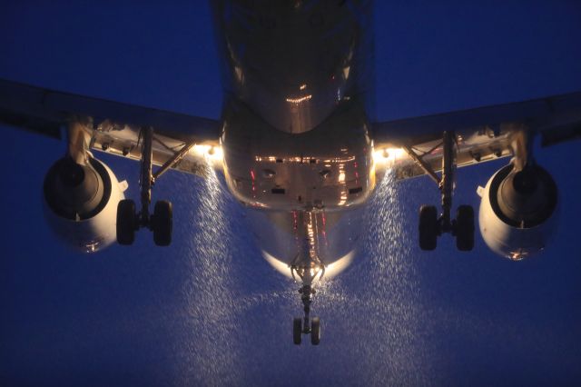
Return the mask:
{"type": "Polygon", "coordinates": [[[46,220],[64,243],[94,253],[116,240],[117,204],[126,188],[99,160],[80,165],[64,157],[44,177],[46,220]]]}

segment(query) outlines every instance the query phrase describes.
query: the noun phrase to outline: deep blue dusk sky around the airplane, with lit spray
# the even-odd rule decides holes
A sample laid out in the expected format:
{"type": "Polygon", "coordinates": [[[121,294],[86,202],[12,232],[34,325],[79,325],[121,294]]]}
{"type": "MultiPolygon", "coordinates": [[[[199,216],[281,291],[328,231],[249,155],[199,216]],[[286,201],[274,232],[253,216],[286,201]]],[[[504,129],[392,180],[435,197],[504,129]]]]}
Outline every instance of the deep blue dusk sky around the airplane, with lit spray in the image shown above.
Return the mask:
{"type": "MultiPolygon", "coordinates": [[[[218,117],[205,2],[26,2],[0,14],[0,77],[218,117]]],[[[380,120],[581,90],[576,1],[377,2],[380,120]],[[470,3],[470,4],[467,4],[470,3]]],[[[539,150],[560,189],[558,233],[523,263],[417,247],[427,178],[382,184],[350,269],[318,294],[320,347],[291,343],[297,285],[271,270],[216,181],[170,173],[169,248],[71,253],[47,229],[41,186],[64,144],[3,127],[0,384],[573,384],[581,376],[578,146],[539,150]]],[[[99,157],[100,154],[97,154],[99,157]]],[[[138,165],[103,156],[137,197],[138,165]]],[[[456,203],[507,160],[458,172],[456,203]]],[[[388,183],[388,182],[386,182],[388,183]]]]}

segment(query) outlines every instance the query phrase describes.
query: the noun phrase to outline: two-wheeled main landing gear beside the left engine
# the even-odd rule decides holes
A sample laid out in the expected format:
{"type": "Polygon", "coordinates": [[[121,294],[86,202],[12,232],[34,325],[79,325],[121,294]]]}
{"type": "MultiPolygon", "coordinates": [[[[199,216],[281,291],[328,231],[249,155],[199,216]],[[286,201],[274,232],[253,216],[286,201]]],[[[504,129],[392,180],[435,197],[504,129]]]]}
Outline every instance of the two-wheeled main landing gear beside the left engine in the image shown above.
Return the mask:
{"type": "MultiPolygon", "coordinates": [[[[133,244],[135,232],[141,227],[147,227],[153,232],[153,242],[158,246],[167,246],[172,243],[172,203],[161,200],[155,203],[153,214],[149,211],[152,203],[152,187],[155,178],[152,174],[153,159],[153,128],[144,127],[142,136],[141,161],[141,204],[142,210],[137,213],[135,203],[131,199],[124,199],[117,205],[117,242],[119,244],[133,244]]],[[[159,176],[161,173],[157,173],[159,176]]]]}

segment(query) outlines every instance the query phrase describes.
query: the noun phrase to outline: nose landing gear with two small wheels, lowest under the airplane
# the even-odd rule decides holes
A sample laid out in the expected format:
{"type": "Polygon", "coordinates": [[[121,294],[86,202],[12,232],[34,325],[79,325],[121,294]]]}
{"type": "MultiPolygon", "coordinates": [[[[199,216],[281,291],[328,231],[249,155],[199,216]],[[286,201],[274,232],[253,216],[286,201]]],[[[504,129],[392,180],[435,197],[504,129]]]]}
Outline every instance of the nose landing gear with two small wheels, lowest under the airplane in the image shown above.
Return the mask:
{"type": "Polygon", "coordinates": [[[310,268],[292,265],[291,273],[295,279],[296,273],[303,283],[299,289],[299,293],[305,313],[303,318],[295,317],[292,321],[292,342],[300,345],[302,335],[310,334],[310,343],[312,345],[319,345],[320,318],[310,318],[310,303],[312,303],[312,296],[315,294],[315,290],[312,288],[312,282],[317,277],[322,278],[325,273],[325,268],[322,265],[311,265],[310,268]]]}

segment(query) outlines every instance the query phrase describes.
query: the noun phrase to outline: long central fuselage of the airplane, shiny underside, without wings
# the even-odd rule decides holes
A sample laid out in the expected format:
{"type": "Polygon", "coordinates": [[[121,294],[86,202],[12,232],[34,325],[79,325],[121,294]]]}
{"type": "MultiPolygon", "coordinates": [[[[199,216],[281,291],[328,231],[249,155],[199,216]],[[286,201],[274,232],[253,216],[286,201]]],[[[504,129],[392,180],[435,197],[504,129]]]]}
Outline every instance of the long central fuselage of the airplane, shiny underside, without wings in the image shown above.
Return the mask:
{"type": "Polygon", "coordinates": [[[353,254],[376,184],[370,3],[212,2],[224,175],[275,267],[353,254]]]}

